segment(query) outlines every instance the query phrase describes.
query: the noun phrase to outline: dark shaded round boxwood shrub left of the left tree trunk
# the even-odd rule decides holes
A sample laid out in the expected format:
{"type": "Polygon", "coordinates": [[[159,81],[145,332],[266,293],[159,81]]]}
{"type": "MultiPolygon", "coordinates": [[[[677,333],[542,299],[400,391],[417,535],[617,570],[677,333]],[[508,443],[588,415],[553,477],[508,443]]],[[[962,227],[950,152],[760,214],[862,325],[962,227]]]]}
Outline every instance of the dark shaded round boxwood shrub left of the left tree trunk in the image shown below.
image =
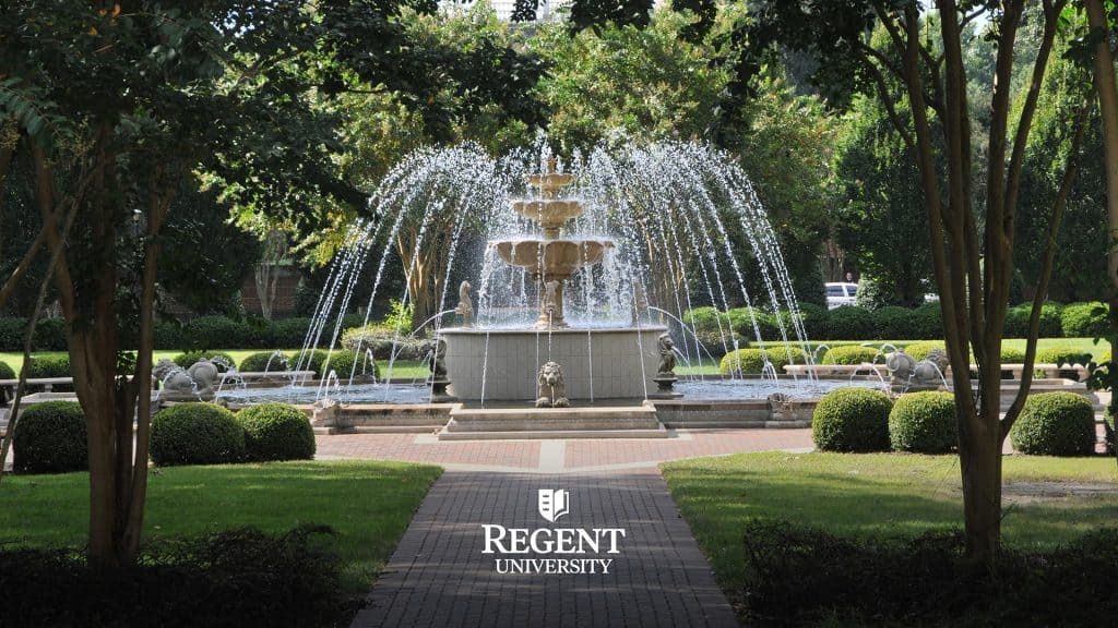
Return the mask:
{"type": "Polygon", "coordinates": [[[89,468],[85,415],[76,401],[46,401],[19,415],[12,435],[17,473],[67,473],[89,468]]]}

